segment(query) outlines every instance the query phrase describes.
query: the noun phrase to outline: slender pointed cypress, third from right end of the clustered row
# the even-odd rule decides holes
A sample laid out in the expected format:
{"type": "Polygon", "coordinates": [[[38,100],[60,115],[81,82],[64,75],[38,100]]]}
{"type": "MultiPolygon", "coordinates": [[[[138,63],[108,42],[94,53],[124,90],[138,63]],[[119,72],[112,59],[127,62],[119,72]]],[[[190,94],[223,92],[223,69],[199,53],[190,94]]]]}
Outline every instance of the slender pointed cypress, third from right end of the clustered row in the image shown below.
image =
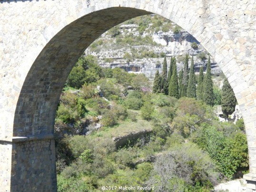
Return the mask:
{"type": "Polygon", "coordinates": [[[197,87],[196,87],[196,75],[194,71],[194,58],[192,56],[190,70],[189,70],[189,78],[187,85],[187,96],[196,98],[197,97],[197,87]]]}

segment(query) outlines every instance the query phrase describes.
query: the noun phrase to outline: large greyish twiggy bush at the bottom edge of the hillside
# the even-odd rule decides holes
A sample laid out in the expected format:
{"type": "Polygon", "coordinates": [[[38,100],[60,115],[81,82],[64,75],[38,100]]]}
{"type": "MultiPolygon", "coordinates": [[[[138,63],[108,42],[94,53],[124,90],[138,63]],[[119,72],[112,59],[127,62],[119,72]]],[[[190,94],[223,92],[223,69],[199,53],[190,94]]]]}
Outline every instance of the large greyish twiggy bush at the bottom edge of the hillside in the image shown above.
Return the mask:
{"type": "Polygon", "coordinates": [[[217,184],[217,176],[214,163],[196,144],[175,145],[157,157],[148,186],[165,192],[195,191],[198,183],[209,191],[217,184]]]}

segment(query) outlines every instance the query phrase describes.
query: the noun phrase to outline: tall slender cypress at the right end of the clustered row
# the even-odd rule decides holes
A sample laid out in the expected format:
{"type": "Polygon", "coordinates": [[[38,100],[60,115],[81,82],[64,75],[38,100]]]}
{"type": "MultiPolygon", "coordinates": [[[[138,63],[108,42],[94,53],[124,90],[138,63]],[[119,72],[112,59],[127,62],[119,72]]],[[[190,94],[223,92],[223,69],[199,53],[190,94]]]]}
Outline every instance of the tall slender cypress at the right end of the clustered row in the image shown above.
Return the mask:
{"type": "Polygon", "coordinates": [[[212,83],[212,74],[211,74],[211,61],[210,61],[210,56],[209,56],[208,63],[207,63],[206,76],[205,76],[204,82],[203,82],[203,101],[209,106],[214,105],[213,85],[212,84],[213,83],[212,83]]]}

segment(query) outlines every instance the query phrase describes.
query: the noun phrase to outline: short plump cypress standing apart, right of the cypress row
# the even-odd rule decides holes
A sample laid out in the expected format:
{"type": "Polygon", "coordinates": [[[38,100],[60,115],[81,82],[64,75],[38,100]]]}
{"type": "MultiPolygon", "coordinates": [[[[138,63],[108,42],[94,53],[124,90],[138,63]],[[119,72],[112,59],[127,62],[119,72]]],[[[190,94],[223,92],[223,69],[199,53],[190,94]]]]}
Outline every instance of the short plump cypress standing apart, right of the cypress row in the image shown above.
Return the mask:
{"type": "Polygon", "coordinates": [[[236,108],[236,97],[226,78],[222,86],[221,108],[225,118],[231,115],[236,108]]]}

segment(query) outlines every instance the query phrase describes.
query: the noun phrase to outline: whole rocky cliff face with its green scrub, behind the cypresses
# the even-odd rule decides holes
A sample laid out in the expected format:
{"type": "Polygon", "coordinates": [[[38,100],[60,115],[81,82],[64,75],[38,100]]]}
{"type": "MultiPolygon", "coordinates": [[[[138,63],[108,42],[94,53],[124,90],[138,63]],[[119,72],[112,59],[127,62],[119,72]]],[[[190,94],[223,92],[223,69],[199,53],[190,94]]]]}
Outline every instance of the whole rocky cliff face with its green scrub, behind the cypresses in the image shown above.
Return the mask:
{"type": "MultiPolygon", "coordinates": [[[[161,73],[165,55],[167,63],[171,57],[176,57],[177,69],[180,70],[185,54],[189,54],[194,56],[196,73],[202,65],[206,69],[207,51],[184,30],[176,33],[171,29],[167,32],[145,30],[141,35],[137,24],[123,24],[117,26],[115,32],[118,34],[115,37],[113,32],[104,33],[85,52],[96,56],[101,67],[119,67],[153,79],[157,70],[161,73]]],[[[221,73],[213,58],[211,62],[212,73],[221,73]]]]}

